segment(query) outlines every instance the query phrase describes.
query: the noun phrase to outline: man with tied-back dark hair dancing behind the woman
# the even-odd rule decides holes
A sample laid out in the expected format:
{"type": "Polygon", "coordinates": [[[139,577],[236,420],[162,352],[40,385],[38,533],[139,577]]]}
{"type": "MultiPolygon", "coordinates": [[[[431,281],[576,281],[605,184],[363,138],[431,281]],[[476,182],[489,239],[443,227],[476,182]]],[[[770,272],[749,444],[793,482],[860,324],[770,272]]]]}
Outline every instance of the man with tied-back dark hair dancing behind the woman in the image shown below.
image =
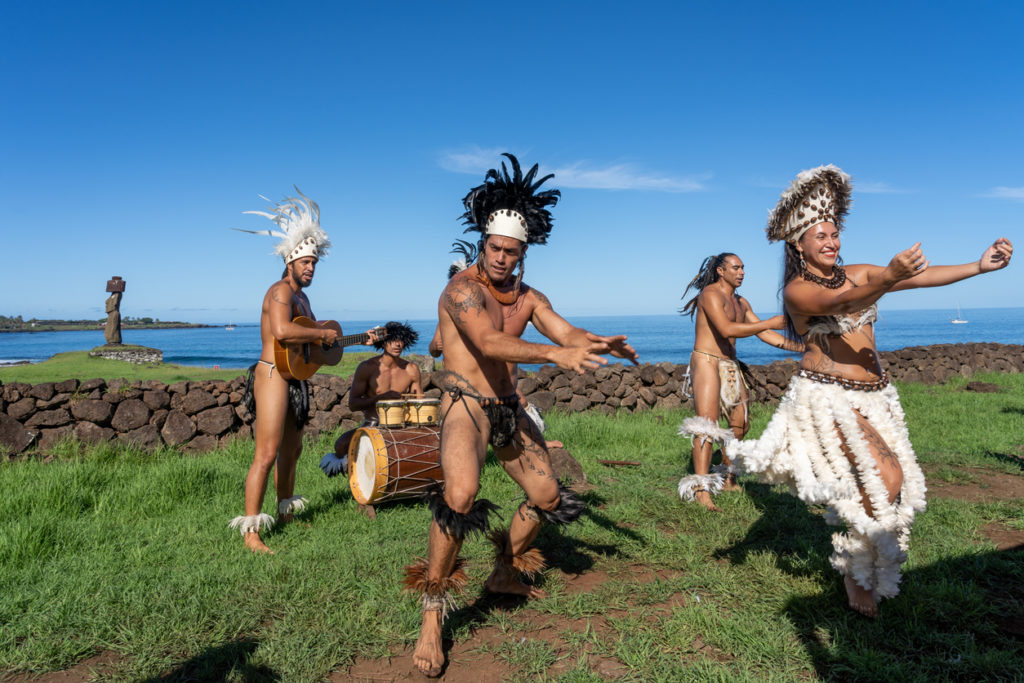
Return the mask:
{"type": "Polygon", "coordinates": [[[736,338],[757,335],[761,341],[787,351],[804,350],[803,344],[772,332],[785,327],[781,315],[762,321],[754,314],[746,299],[736,294],[743,284],[743,262],[735,254],[709,256],[683,292],[683,298],[690,289],[697,290],[697,295],[680,311],[689,313],[691,318],[696,315],[693,352],[687,369],[696,416],[680,427],[680,433],[689,435],[693,443],[694,473],[679,481],[679,496],[695,500],[714,512],[721,510],[712,502],[713,494],[738,488],[732,463],[724,453],[717,471],[710,471],[712,443],[721,444],[729,435],[718,426],[719,416],[725,414],[736,438],[742,438],[750,429],[749,391],[743,379],[746,368],[736,358],[736,338]]]}

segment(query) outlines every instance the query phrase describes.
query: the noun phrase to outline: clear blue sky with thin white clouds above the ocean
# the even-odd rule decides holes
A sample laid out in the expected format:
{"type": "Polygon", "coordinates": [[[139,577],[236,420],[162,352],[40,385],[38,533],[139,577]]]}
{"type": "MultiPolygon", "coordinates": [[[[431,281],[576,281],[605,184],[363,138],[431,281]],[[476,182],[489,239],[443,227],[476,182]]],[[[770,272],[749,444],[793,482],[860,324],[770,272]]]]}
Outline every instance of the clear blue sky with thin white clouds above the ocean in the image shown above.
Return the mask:
{"type": "MultiPolygon", "coordinates": [[[[512,152],[562,190],[526,280],[572,315],[672,313],[702,258],[777,308],[768,210],[854,178],[846,262],[1024,249],[1024,4],[42,2],[0,41],[0,314],[255,322],[293,184],[335,249],[321,318],[436,310],[461,199],[512,152]]],[[[1019,260],[1019,259],[1018,259],[1019,260]]],[[[1024,269],[889,308],[1017,306],[1024,269]]]]}

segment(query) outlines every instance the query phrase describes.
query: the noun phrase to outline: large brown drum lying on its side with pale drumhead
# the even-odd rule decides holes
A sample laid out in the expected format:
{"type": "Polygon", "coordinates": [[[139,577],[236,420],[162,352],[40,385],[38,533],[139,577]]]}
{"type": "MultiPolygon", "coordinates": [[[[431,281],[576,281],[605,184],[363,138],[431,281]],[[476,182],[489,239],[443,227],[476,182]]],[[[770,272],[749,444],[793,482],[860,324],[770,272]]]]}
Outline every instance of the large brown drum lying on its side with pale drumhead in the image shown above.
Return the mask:
{"type": "Polygon", "coordinates": [[[443,481],[437,427],[359,427],[348,446],[352,498],[361,505],[423,496],[443,481]]]}

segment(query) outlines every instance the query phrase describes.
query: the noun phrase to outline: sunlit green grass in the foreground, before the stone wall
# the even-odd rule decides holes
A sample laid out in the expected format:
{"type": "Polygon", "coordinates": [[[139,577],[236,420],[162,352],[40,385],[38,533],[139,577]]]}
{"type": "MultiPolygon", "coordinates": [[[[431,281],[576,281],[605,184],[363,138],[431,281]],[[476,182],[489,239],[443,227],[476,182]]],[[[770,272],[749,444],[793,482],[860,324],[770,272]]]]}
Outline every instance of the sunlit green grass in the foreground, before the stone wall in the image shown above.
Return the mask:
{"type": "MultiPolygon", "coordinates": [[[[1024,381],[983,379],[1005,391],[900,387],[930,472],[1024,476],[1014,451],[1024,381]]],[[[771,411],[753,414],[756,433],[771,411]]],[[[1024,643],[1004,627],[1024,612],[1024,557],[997,552],[979,529],[1013,527],[1024,502],[932,497],[901,594],[869,621],[845,606],[821,510],[753,480],[717,499],[721,515],[678,500],[685,416],[548,416],[549,437],[569,446],[591,484],[581,521],[538,538],[549,597],[478,601],[452,615],[447,635],[507,634],[480,654],[517,680],[602,680],[596,658],[633,681],[1019,680],[1024,643]],[[567,577],[596,572],[607,580],[571,590],[567,577]],[[548,623],[557,644],[538,633],[548,623]]],[[[419,609],[399,580],[426,552],[429,512],[398,503],[376,521],[359,513],[316,467],[333,436],[307,444],[297,490],[310,507],[267,535],[273,556],[250,555],[226,528],[241,513],[251,441],[204,457],[68,447],[49,464],[0,466],[0,671],[54,671],[110,649],[123,655],[120,679],[323,680],[415,642],[419,609]]],[[[506,519],[521,500],[493,461],[481,490],[506,519]]],[[[267,498],[271,512],[272,487],[267,498]]],[[[481,594],[490,552],[466,543],[461,604],[481,594]]]]}

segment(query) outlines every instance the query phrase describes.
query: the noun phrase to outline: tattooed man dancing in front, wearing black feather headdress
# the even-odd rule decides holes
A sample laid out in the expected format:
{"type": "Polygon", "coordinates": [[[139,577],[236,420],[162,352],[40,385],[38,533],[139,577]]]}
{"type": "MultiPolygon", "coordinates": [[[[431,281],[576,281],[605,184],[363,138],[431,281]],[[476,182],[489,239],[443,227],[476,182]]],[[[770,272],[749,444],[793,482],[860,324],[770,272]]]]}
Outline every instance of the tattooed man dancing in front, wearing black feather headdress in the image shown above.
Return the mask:
{"type": "Polygon", "coordinates": [[[428,559],[408,567],[406,577],[407,588],[423,593],[423,622],[413,660],[428,676],[439,675],[444,664],[441,624],[453,605],[451,592],[467,582],[459,549],[470,532],[487,531],[488,514],[497,507],[476,500],[487,444],[522,486],[526,500],[512,513],[508,530],[489,535],[497,557],[486,590],[543,596],[520,581],[520,574],[531,578],[544,568],[540,550],[529,546],[544,521],[565,524],[583,512],[583,503],[552,474],[544,439],[521,408],[509,364],[553,362],[582,374],[605,365],[602,353],[634,362],[637,357],[625,336],[600,337],[569,325],[544,294],[522,282],[527,246],[547,242],[547,207],[557,203],[560,193],[537,191],[552,176],[535,181],[537,165],[523,175],[518,160],[505,156],[512,175],[503,163],[501,172],[487,171],[483,184],[463,200],[467,231],[482,236],[479,256],[449,281],[437,305],[444,354],[444,486],[430,498],[428,559]],[[555,345],[522,341],[519,326],[510,334],[509,318],[520,314],[555,345]]]}

